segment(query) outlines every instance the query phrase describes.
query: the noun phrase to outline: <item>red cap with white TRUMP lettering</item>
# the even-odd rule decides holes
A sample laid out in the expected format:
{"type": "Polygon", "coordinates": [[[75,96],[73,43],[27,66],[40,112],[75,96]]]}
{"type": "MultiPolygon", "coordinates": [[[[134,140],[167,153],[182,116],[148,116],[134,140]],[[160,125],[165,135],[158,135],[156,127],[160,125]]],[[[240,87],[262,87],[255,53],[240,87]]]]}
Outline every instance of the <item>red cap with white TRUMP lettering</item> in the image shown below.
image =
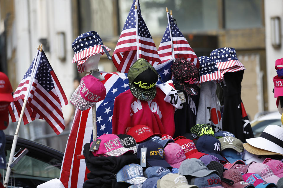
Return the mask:
{"type": "Polygon", "coordinates": [[[206,153],[199,152],[195,147],[195,143],[190,139],[180,138],[176,140],[175,143],[179,144],[183,148],[187,159],[189,158],[199,159],[203,155],[206,155],[206,153]]]}

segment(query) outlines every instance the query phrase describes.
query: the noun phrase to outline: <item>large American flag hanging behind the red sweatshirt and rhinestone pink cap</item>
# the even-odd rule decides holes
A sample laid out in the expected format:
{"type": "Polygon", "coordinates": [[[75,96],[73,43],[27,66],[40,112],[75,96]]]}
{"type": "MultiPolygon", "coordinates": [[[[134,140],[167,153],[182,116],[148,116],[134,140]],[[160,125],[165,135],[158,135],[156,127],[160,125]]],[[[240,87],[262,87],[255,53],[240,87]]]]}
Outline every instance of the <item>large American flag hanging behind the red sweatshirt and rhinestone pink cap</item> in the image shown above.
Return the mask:
{"type": "MultiPolygon", "coordinates": [[[[106,88],[106,97],[96,103],[97,136],[112,133],[114,100],[129,89],[126,73],[102,73],[102,76],[105,78],[102,83],[106,88]]],[[[60,181],[65,187],[83,186],[89,171],[84,160],[78,160],[76,156],[83,154],[83,146],[92,142],[92,138],[91,108],[84,111],[76,109],[60,173],[60,181]]]]}

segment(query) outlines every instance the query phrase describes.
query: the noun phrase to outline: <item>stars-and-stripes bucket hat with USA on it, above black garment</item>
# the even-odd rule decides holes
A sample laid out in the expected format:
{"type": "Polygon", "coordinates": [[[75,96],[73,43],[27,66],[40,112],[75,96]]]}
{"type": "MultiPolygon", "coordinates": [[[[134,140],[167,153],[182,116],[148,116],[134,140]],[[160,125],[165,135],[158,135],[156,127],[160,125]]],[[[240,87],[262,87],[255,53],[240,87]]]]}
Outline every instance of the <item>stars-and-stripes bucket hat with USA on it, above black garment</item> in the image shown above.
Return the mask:
{"type": "Polygon", "coordinates": [[[238,60],[235,48],[218,48],[210,53],[210,58],[216,63],[218,70],[236,72],[246,70],[245,66],[238,60]]]}

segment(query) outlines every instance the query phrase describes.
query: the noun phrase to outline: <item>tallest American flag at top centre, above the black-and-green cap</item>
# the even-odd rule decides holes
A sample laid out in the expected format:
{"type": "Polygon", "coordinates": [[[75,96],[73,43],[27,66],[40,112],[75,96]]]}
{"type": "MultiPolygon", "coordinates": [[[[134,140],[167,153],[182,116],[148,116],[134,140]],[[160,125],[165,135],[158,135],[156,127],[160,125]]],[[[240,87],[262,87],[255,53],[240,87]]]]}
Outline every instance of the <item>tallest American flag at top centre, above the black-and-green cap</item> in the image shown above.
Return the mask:
{"type": "MultiPolygon", "coordinates": [[[[141,16],[141,9],[138,6],[138,28],[139,28],[139,57],[147,60],[152,66],[161,63],[154,41],[141,16]]],[[[113,63],[117,71],[128,73],[130,66],[136,61],[136,21],[135,21],[135,0],[129,11],[118,43],[113,52],[113,63]]]]}

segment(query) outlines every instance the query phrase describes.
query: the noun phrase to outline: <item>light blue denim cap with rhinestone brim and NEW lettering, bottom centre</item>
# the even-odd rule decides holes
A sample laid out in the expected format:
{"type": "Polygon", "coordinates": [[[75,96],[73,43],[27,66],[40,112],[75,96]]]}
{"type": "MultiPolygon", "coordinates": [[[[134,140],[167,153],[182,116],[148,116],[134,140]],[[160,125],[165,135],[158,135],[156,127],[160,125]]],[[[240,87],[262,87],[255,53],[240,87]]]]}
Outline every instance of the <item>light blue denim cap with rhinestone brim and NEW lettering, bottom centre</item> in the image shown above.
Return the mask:
{"type": "Polygon", "coordinates": [[[116,175],[117,182],[129,184],[142,184],[147,178],[144,177],[143,169],[139,164],[127,164],[116,175]]]}

